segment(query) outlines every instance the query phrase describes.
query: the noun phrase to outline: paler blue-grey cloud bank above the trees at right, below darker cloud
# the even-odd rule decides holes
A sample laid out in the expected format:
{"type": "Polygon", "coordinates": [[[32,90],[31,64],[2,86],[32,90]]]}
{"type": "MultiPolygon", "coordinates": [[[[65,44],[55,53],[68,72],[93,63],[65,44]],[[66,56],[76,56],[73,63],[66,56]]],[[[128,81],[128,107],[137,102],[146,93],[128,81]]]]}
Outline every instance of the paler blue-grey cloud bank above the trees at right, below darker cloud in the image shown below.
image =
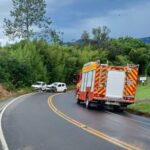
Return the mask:
{"type": "Polygon", "coordinates": [[[106,25],[111,37],[133,36],[137,38],[150,36],[150,2],[138,3],[134,7],[111,10],[105,16],[79,19],[70,28],[61,28],[65,40],[80,38],[83,30],[91,32],[93,27],[106,25]]]}

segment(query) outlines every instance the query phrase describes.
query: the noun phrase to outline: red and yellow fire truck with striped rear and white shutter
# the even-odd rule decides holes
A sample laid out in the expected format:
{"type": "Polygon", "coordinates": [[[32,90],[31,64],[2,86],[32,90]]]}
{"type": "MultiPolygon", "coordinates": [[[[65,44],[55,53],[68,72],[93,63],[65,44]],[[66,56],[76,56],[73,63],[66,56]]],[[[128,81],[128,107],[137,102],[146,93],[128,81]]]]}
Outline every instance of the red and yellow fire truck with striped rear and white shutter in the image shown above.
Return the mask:
{"type": "Polygon", "coordinates": [[[77,83],[77,103],[86,108],[92,103],[124,110],[135,102],[139,65],[109,66],[99,62],[86,63],[77,83]]]}

